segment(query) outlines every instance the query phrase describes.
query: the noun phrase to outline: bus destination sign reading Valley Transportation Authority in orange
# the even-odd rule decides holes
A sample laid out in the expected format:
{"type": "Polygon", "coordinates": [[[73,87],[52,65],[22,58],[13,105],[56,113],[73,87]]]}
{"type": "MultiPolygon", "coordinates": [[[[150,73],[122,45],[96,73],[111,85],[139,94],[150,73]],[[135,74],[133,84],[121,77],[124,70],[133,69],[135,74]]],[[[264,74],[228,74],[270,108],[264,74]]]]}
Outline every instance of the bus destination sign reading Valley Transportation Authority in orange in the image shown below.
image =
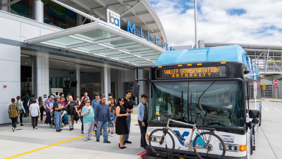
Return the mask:
{"type": "Polygon", "coordinates": [[[220,78],[228,76],[228,66],[157,68],[159,79],[170,78],[220,78]]]}

